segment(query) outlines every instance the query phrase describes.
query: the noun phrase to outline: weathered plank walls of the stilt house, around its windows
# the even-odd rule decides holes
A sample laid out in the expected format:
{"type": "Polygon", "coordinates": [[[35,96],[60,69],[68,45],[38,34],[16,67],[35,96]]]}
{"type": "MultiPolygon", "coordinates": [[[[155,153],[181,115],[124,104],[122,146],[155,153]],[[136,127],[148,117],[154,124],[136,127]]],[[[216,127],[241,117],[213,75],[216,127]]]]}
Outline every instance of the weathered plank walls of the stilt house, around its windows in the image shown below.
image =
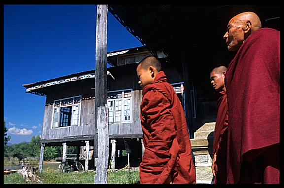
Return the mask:
{"type": "MultiPolygon", "coordinates": [[[[109,67],[111,76],[107,76],[108,92],[132,90],[132,121],[128,123],[109,123],[109,138],[142,138],[140,124],[140,104],[142,89],[136,75],[137,64],[109,67]]],[[[162,63],[163,70],[170,83],[183,82],[181,75],[170,63],[162,63]]],[[[94,137],[95,123],[95,79],[89,78],[54,85],[48,88],[44,110],[41,143],[55,143],[74,140],[90,140],[94,137]],[[81,96],[80,121],[78,126],[52,128],[54,100],[81,96]]],[[[45,88],[47,90],[47,88],[45,88]]]]}

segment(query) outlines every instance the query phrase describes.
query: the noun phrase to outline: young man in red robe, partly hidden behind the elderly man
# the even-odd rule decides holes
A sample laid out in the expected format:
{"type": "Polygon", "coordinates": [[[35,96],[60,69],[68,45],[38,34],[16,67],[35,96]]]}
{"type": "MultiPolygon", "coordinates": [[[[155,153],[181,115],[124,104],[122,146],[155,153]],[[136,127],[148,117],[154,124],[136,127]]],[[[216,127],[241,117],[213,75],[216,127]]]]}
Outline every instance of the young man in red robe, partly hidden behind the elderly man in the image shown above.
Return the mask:
{"type": "Polygon", "coordinates": [[[227,182],[228,105],[225,86],[227,67],[219,66],[210,72],[210,81],[220,97],[217,101],[217,118],[214,131],[212,173],[215,184],[227,182]]]}

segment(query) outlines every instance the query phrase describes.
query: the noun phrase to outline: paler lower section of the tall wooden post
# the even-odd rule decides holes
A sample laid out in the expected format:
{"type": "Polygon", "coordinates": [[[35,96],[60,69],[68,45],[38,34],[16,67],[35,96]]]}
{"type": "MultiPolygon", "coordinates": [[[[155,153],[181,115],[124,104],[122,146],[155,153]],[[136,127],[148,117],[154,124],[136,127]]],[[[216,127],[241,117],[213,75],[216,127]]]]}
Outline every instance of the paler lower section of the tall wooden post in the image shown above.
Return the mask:
{"type": "Polygon", "coordinates": [[[109,154],[108,107],[98,107],[98,158],[95,159],[97,174],[95,184],[107,184],[107,168],[109,154]]]}

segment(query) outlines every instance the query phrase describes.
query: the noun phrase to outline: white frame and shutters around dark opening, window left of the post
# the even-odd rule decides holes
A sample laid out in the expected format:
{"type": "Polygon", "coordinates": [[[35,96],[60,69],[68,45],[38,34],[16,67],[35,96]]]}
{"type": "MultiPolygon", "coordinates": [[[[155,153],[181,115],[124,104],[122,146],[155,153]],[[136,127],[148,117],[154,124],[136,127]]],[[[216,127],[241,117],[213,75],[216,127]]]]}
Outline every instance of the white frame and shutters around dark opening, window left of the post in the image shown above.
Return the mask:
{"type": "Polygon", "coordinates": [[[81,119],[80,118],[81,117],[80,115],[81,114],[81,103],[82,103],[81,95],[54,100],[53,110],[52,110],[51,129],[79,126],[80,119],[81,119]],[[62,125],[60,126],[62,107],[71,107],[71,119],[70,119],[70,125],[68,126],[62,126],[62,125]]]}

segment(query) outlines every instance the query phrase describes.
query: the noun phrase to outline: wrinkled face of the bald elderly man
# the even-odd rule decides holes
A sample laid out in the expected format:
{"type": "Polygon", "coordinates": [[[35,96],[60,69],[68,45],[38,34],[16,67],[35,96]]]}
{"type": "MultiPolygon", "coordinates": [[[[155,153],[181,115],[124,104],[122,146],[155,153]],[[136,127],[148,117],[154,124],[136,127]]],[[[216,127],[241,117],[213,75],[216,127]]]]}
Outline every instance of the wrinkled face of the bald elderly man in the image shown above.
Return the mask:
{"type": "Polygon", "coordinates": [[[245,41],[243,28],[244,24],[237,20],[237,18],[234,17],[230,20],[227,26],[227,32],[224,35],[224,39],[226,40],[229,51],[238,51],[245,41]]]}

